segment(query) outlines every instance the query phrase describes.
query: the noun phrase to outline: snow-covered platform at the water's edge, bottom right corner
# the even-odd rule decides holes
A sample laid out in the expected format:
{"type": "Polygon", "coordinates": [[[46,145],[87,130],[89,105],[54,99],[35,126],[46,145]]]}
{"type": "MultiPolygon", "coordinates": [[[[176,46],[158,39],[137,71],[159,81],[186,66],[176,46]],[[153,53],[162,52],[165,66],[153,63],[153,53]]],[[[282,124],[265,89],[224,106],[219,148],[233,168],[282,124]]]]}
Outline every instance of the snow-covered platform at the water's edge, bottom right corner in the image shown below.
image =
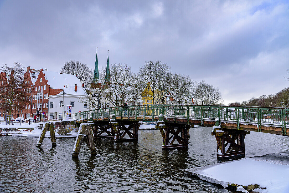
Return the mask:
{"type": "MultiPolygon", "coordinates": [[[[289,152],[243,158],[186,170],[200,179],[222,185],[260,185],[260,193],[289,192],[289,152]]],[[[242,188],[239,188],[241,190],[242,188]]],[[[244,190],[244,192],[247,192],[244,190]]]]}

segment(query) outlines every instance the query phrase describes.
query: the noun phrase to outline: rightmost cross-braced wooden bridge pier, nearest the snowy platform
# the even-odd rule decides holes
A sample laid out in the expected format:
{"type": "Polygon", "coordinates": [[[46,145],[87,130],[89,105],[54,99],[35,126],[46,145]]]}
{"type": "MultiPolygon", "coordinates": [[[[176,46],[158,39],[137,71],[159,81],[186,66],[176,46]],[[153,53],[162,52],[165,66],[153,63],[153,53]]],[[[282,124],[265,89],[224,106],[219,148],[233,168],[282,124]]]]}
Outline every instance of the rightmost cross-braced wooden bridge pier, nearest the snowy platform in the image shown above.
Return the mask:
{"type": "Polygon", "coordinates": [[[217,159],[227,159],[235,156],[245,156],[245,136],[250,131],[245,130],[221,130],[215,128],[212,135],[215,135],[218,148],[217,159]]]}

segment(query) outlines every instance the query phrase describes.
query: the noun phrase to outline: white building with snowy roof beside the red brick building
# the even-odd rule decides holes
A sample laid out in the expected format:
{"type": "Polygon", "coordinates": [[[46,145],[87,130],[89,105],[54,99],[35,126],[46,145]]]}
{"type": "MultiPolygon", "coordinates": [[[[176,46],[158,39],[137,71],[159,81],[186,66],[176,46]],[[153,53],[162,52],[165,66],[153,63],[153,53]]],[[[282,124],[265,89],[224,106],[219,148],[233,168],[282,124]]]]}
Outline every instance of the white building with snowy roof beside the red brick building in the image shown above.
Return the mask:
{"type": "Polygon", "coordinates": [[[88,105],[85,102],[87,99],[87,92],[84,87],[68,86],[66,89],[56,95],[49,96],[48,103],[48,119],[61,120],[74,118],[72,116],[79,111],[87,111],[88,105]],[[62,104],[64,104],[62,109],[62,104]],[[71,112],[69,112],[71,106],[71,112]],[[69,116],[70,114],[70,116],[69,116]],[[64,115],[62,117],[62,115],[64,115]]]}

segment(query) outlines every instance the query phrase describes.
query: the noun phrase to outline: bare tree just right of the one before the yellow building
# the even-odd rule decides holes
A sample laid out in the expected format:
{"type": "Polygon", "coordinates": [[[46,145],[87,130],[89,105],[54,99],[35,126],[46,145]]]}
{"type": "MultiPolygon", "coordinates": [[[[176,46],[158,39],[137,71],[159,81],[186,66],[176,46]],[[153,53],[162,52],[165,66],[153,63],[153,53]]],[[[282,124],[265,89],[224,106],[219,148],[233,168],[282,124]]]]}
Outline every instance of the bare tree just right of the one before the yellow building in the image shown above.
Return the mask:
{"type": "Polygon", "coordinates": [[[191,102],[193,97],[193,81],[189,76],[175,73],[170,81],[170,92],[178,104],[191,102]]]}

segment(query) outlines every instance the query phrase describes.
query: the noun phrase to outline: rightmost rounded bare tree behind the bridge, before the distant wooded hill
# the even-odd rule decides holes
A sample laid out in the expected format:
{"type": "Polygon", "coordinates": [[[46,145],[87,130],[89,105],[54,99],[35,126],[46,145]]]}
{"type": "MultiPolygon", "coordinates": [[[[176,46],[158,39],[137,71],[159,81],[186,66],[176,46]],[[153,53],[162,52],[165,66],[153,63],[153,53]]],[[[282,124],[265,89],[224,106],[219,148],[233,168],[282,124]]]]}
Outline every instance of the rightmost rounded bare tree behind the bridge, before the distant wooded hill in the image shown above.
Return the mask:
{"type": "Polygon", "coordinates": [[[214,105],[221,102],[222,94],[218,88],[205,81],[195,82],[195,102],[202,105],[214,105]]]}

